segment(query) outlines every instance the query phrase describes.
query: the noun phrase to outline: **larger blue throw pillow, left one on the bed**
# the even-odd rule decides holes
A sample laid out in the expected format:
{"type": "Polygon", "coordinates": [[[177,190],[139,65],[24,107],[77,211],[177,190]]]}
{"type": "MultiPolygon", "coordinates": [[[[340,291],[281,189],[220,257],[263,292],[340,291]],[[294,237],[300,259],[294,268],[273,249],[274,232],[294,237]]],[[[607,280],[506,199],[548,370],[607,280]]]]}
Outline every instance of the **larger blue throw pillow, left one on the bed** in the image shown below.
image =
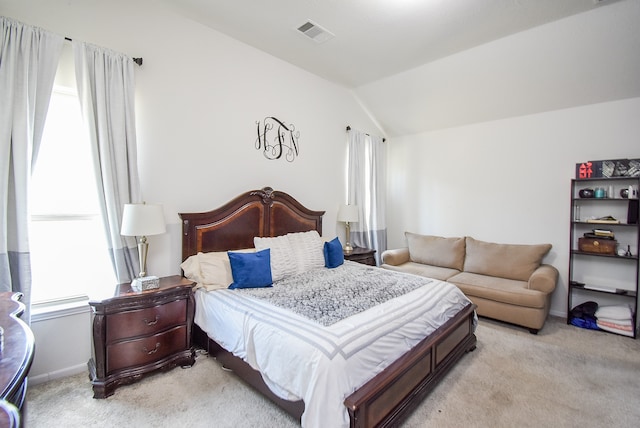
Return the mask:
{"type": "Polygon", "coordinates": [[[271,287],[271,251],[269,248],[255,253],[234,253],[229,251],[229,263],[235,288],[271,287]]]}

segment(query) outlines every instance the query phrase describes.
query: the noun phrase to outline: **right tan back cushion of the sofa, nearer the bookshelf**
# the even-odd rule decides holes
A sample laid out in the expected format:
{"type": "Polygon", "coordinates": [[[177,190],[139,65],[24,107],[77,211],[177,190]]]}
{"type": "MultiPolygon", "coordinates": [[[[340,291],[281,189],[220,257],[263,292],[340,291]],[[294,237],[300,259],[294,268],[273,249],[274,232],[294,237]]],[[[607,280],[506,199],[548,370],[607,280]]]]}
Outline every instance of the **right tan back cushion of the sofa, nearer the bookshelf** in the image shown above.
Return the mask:
{"type": "Polygon", "coordinates": [[[496,244],[467,236],[464,271],[528,281],[550,249],[551,244],[496,244]]]}

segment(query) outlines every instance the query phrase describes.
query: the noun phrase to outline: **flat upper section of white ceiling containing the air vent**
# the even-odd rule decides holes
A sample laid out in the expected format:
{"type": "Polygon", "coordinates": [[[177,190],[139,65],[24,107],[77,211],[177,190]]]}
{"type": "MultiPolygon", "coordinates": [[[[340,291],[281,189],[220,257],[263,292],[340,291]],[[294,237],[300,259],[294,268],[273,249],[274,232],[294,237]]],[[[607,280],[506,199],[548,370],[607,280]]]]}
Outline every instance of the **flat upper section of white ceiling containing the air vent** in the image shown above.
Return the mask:
{"type": "Polygon", "coordinates": [[[174,11],[357,87],[612,0],[166,0],[174,11]],[[316,43],[307,20],[335,37],[316,43]]]}

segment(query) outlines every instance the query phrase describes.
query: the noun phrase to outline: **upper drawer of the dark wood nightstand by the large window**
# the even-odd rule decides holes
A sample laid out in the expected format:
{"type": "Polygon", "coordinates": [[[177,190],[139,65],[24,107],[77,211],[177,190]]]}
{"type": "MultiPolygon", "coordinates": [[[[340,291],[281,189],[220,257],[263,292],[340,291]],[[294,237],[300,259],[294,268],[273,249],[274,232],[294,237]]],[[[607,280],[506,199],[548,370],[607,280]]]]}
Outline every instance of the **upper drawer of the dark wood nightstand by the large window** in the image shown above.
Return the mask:
{"type": "Polygon", "coordinates": [[[152,308],[112,314],[107,317],[107,343],[118,339],[162,331],[187,321],[187,300],[176,300],[152,308]]]}

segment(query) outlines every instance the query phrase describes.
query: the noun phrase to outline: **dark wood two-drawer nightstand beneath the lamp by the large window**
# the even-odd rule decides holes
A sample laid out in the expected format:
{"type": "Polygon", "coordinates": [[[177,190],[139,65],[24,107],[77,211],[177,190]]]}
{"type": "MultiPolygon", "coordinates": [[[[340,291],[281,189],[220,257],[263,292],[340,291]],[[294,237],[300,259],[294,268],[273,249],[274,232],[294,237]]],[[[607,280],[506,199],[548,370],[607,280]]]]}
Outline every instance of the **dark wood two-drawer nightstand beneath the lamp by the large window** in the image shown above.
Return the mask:
{"type": "Polygon", "coordinates": [[[94,312],[88,363],[93,398],[106,398],[147,373],[195,363],[193,285],[168,276],[160,278],[160,288],[134,291],[120,284],[114,297],[89,302],[94,312]]]}

